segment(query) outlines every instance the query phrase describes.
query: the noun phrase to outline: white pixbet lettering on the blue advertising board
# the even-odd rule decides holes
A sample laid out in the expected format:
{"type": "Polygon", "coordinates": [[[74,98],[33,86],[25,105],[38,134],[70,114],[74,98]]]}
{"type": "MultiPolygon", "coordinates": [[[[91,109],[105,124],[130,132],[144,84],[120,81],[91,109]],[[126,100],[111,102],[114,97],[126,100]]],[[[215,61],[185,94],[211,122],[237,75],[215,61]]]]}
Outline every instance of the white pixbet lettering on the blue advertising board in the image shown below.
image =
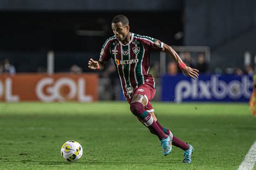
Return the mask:
{"type": "Polygon", "coordinates": [[[252,81],[248,76],[242,76],[241,81],[232,80],[226,83],[219,80],[218,76],[212,76],[210,80],[182,80],[175,87],[175,101],[180,103],[184,99],[238,99],[242,96],[249,99],[252,81]]]}

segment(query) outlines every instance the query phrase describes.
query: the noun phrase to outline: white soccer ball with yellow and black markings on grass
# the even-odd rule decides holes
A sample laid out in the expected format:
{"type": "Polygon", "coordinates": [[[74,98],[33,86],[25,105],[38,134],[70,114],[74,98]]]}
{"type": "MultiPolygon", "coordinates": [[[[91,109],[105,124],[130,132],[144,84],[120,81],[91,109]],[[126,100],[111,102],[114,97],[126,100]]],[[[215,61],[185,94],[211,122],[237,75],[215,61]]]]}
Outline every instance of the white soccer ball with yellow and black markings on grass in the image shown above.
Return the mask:
{"type": "Polygon", "coordinates": [[[60,153],[66,161],[76,162],[82,157],[83,148],[77,141],[69,140],[62,145],[60,153]]]}

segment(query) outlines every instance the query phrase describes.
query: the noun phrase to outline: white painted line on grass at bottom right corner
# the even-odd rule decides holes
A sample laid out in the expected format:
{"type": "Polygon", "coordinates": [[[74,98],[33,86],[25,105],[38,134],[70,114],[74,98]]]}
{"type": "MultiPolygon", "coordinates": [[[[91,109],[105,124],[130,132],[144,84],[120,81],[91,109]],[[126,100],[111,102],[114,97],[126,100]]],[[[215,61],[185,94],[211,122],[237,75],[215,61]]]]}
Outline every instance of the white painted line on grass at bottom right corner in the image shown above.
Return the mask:
{"type": "Polygon", "coordinates": [[[245,155],[245,159],[242,161],[238,170],[248,169],[251,170],[256,162],[256,141],[250,148],[249,152],[245,155]]]}

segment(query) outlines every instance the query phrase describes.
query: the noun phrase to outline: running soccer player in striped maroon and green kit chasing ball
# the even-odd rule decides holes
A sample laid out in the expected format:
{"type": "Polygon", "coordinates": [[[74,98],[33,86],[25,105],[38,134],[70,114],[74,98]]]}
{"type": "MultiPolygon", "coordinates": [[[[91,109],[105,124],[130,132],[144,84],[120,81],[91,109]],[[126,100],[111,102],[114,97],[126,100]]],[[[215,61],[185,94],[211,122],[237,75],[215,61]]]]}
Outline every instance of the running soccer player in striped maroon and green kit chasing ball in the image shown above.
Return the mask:
{"type": "Polygon", "coordinates": [[[107,61],[112,59],[131,112],[149,128],[152,134],[157,135],[164,155],[168,155],[174,145],[184,150],[183,162],[191,163],[193,147],[175,137],[154,115],[150,101],[156,89],[154,78],[149,74],[150,51],[166,52],[186,76],[191,78],[198,78],[198,70],[186,66],[171,46],[158,39],[131,33],[129,20],[124,15],[117,15],[112,19],[112,30],[114,36],[104,43],[99,60],[90,59],[88,67],[92,70],[102,70],[107,61]]]}

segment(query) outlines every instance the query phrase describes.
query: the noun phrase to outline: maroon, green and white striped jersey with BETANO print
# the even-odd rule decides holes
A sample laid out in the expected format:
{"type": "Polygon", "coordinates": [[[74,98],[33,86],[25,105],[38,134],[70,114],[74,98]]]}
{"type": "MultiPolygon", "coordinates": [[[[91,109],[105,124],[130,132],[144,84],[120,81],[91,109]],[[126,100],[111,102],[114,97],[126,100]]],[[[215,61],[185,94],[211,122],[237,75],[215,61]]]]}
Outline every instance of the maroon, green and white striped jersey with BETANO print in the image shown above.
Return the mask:
{"type": "Polygon", "coordinates": [[[161,51],[164,43],[148,36],[131,33],[131,40],[122,44],[115,36],[106,40],[100,52],[99,62],[107,62],[110,58],[119,74],[126,99],[131,98],[133,90],[145,82],[154,79],[149,74],[150,51],[161,51]]]}

